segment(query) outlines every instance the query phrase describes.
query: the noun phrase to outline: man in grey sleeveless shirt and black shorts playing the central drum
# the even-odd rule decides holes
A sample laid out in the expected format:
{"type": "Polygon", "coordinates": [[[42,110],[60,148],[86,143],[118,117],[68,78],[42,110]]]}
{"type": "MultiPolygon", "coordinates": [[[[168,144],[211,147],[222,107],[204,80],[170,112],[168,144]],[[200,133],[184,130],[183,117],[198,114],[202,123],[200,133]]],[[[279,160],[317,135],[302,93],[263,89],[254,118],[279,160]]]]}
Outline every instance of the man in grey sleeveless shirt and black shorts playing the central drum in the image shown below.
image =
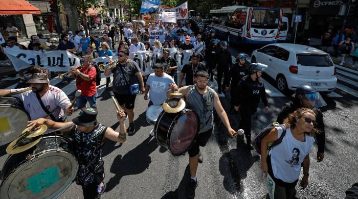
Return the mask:
{"type": "MultiPolygon", "coordinates": [[[[200,154],[199,146],[205,146],[213,131],[213,110],[215,109],[217,115],[224,123],[232,137],[236,136],[236,132],[231,128],[228,115],[222,108],[219,96],[215,90],[208,86],[209,74],[207,71],[200,70],[195,74],[196,84],[184,86],[178,89],[178,92],[184,93],[184,98],[188,109],[192,109],[199,117],[200,126],[198,135],[194,138],[192,147],[189,149],[189,166],[190,166],[190,181],[187,187],[187,197],[195,196],[195,189],[197,187],[196,170],[198,162],[203,162],[203,156],[200,154]],[[190,88],[188,88],[190,87],[190,88]],[[187,92],[184,92],[188,88],[187,92]]],[[[170,93],[177,89],[175,84],[170,84],[170,89],[167,92],[168,97],[172,97],[170,93]]]]}

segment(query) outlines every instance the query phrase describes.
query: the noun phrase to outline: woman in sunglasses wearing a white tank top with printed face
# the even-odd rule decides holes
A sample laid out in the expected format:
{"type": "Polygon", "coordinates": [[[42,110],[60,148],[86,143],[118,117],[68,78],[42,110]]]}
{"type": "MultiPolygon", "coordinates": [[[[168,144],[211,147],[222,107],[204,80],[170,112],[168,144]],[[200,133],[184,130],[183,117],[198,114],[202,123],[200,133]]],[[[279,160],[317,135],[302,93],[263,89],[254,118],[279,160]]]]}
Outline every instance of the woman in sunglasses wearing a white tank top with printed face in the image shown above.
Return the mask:
{"type": "Polygon", "coordinates": [[[279,139],[281,127],[274,128],[261,140],[261,166],[267,181],[266,199],[294,198],[295,186],[303,166],[301,186],[308,185],[309,151],[315,142],[316,114],[308,108],[299,108],[290,113],[283,121],[286,132],[281,143],[267,152],[269,143],[279,139]]]}

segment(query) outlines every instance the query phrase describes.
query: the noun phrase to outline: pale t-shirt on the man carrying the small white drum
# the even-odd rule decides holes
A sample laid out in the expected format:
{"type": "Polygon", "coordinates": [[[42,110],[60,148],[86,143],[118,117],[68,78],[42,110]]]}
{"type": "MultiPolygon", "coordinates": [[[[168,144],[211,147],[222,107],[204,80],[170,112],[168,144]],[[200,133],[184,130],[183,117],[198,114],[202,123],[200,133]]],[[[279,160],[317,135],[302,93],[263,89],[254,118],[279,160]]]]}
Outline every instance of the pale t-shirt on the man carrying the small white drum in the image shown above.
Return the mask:
{"type": "Polygon", "coordinates": [[[154,73],[149,74],[147,83],[149,88],[149,99],[153,105],[161,105],[167,99],[167,91],[169,84],[175,84],[173,78],[167,73],[163,73],[162,77],[155,76],[154,73]]]}

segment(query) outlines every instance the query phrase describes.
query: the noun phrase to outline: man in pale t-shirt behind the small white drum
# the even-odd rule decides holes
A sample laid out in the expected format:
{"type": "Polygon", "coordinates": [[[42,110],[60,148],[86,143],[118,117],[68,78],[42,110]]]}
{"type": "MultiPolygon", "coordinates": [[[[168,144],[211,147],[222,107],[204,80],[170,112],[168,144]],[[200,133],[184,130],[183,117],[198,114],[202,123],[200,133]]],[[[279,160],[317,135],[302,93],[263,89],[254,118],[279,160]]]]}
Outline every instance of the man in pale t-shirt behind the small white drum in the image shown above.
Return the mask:
{"type": "MultiPolygon", "coordinates": [[[[156,63],[154,65],[154,72],[149,74],[147,83],[145,85],[144,99],[148,100],[151,105],[159,106],[167,99],[166,91],[170,88],[169,84],[175,84],[173,78],[169,74],[164,72],[164,64],[156,63]]],[[[154,136],[154,131],[150,132],[151,136],[154,136]]]]}

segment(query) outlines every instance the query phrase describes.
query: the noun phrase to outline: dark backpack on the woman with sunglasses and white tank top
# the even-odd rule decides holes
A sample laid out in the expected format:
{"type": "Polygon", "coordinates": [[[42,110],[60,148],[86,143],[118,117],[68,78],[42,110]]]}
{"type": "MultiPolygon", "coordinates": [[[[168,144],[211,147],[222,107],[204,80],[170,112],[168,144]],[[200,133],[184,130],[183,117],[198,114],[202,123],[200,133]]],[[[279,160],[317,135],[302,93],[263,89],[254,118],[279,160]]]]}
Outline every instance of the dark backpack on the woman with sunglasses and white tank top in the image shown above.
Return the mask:
{"type": "Polygon", "coordinates": [[[274,142],[272,142],[269,147],[267,147],[267,151],[270,151],[272,147],[276,146],[277,144],[282,142],[283,137],[286,135],[286,126],[280,125],[278,122],[271,123],[269,126],[264,128],[255,138],[253,142],[253,146],[256,150],[256,152],[261,155],[261,140],[265,135],[269,134],[271,130],[273,130],[275,127],[281,127],[282,128],[282,134],[281,136],[274,142]]]}

